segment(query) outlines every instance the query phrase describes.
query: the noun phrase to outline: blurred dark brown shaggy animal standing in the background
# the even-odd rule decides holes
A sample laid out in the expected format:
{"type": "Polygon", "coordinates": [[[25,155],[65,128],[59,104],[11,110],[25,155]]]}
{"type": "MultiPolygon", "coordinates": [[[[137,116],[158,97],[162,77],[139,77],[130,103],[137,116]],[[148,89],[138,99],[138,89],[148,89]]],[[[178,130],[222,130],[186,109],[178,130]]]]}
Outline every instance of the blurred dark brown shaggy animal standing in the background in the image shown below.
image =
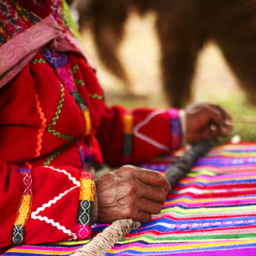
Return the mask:
{"type": "Polygon", "coordinates": [[[256,0],[79,0],[77,9],[81,30],[89,23],[99,57],[124,81],[129,79],[118,47],[129,13],[155,13],[169,105],[182,108],[190,101],[196,58],[209,40],[220,47],[248,99],[256,103],[256,0]]]}

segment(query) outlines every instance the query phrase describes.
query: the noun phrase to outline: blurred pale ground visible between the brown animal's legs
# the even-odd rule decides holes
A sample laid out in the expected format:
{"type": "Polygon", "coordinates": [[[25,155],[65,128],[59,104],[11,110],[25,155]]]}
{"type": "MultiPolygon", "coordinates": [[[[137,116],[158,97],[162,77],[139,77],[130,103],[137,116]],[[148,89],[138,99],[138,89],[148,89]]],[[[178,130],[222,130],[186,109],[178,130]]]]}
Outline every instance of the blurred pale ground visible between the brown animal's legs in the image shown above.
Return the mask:
{"type": "MultiPolygon", "coordinates": [[[[126,108],[147,106],[167,108],[161,86],[161,72],[158,65],[158,41],[153,28],[153,15],[140,19],[132,15],[126,26],[126,38],[120,49],[124,67],[129,71],[133,88],[141,95],[130,98],[119,79],[109,74],[98,60],[89,32],[82,37],[89,53],[94,57],[99,81],[105,91],[109,105],[123,105],[126,108]]],[[[236,78],[226,65],[217,46],[209,43],[200,53],[195,78],[193,79],[193,100],[209,101],[223,106],[235,118],[256,118],[256,107],[247,104],[236,78]]],[[[243,140],[256,141],[256,123],[234,123],[231,134],[240,134],[243,140]]]]}

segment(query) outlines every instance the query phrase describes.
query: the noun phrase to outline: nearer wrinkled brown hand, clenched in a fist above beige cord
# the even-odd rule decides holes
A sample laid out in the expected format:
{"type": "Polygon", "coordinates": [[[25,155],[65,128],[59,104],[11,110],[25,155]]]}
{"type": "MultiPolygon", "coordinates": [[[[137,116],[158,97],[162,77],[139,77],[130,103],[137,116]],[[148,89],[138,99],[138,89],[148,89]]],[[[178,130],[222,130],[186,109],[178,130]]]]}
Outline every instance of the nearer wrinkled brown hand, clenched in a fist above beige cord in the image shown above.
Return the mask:
{"type": "Polygon", "coordinates": [[[98,223],[117,219],[148,222],[160,213],[169,183],[159,173],[124,165],[95,179],[98,198],[98,223]]]}

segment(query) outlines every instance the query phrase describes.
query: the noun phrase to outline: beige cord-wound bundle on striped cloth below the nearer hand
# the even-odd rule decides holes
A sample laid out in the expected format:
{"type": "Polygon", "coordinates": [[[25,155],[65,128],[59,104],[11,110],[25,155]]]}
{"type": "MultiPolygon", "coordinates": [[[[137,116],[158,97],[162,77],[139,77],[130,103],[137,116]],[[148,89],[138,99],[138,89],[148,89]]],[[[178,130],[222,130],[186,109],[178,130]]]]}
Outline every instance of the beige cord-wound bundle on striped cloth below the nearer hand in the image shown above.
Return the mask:
{"type": "Polygon", "coordinates": [[[116,220],[106,227],[101,233],[97,234],[88,244],[77,249],[72,256],[103,256],[110,250],[115,243],[120,241],[123,236],[131,230],[137,229],[139,222],[132,219],[116,220]]]}

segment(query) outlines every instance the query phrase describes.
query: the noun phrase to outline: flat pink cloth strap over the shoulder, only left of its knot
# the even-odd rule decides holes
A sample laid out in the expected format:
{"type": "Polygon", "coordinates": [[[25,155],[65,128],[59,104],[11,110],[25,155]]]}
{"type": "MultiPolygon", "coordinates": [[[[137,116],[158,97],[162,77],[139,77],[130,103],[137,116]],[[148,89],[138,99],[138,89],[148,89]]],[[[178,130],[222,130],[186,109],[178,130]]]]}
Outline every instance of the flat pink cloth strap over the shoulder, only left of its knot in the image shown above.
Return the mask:
{"type": "Polygon", "coordinates": [[[0,75],[10,70],[0,80],[0,88],[15,77],[41,47],[61,34],[60,30],[52,26],[61,29],[53,16],[49,15],[0,47],[0,75]]]}

